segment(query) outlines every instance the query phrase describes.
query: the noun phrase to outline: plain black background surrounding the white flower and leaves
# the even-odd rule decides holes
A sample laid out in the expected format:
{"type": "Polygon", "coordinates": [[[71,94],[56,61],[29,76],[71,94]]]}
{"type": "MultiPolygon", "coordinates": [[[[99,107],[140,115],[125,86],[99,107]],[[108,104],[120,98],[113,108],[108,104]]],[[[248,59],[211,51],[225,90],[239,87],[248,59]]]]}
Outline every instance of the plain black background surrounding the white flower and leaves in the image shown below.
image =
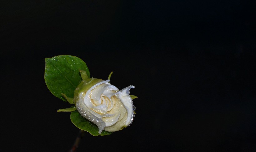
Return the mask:
{"type": "Polygon", "coordinates": [[[1,2],[1,151],[68,151],[70,104],[44,81],[44,58],[69,54],[91,76],[134,85],[136,116],[82,151],[256,151],[255,2],[1,2]]]}

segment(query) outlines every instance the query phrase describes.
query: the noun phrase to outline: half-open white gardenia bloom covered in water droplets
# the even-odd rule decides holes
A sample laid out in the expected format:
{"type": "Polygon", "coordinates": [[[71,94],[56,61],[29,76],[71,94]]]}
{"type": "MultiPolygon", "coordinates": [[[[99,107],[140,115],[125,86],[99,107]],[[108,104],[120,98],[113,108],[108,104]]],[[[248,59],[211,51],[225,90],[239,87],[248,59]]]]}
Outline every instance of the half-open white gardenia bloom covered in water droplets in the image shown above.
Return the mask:
{"type": "Polygon", "coordinates": [[[83,80],[75,90],[74,104],[77,111],[96,124],[99,133],[119,131],[129,126],[135,116],[128,86],[119,90],[110,80],[90,78],[83,80]]]}

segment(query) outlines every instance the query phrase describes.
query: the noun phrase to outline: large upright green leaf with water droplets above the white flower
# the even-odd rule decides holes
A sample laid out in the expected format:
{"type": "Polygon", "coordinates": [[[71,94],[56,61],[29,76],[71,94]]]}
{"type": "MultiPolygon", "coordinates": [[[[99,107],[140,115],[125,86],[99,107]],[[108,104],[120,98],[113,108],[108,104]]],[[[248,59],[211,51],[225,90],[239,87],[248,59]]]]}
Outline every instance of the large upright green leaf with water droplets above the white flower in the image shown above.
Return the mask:
{"type": "Polygon", "coordinates": [[[61,94],[73,98],[77,85],[82,81],[79,70],[86,71],[90,77],[86,63],[76,56],[59,55],[45,58],[45,83],[53,95],[66,101],[61,94]]]}

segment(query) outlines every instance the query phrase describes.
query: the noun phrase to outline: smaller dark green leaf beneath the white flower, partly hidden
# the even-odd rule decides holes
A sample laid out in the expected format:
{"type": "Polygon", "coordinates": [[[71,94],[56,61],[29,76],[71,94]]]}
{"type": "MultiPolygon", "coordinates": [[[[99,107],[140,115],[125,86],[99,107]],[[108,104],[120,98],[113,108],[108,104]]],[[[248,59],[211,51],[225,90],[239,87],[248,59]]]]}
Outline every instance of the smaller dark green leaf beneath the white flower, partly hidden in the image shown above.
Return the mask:
{"type": "Polygon", "coordinates": [[[98,127],[90,122],[89,120],[85,119],[84,117],[81,116],[81,114],[76,110],[71,112],[70,114],[70,119],[74,123],[74,125],[84,131],[89,132],[93,136],[98,136],[98,135],[110,135],[112,132],[107,132],[103,130],[101,134],[99,134],[99,129],[98,127]]]}

